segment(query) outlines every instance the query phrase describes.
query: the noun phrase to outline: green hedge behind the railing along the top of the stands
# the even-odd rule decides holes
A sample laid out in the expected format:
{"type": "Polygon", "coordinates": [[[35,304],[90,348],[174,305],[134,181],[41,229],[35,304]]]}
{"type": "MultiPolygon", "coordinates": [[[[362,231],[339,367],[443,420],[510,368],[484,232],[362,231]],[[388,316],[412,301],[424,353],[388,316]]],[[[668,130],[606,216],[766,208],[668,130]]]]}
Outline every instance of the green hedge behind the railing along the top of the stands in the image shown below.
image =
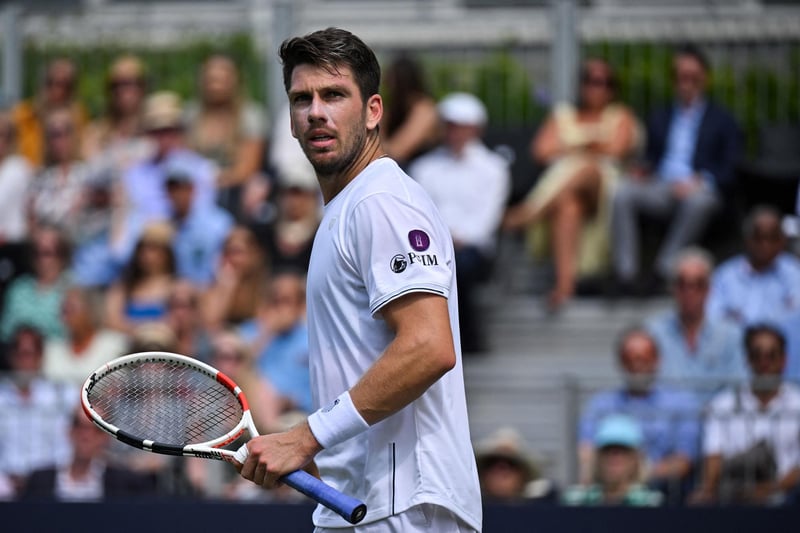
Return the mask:
{"type": "MultiPolygon", "coordinates": [[[[777,66],[775,58],[763,51],[749,56],[748,62],[738,61],[736,68],[730,63],[714,65],[711,92],[740,121],[751,152],[756,148],[760,124],[800,122],[800,42],[782,46],[788,52],[784,64],[777,66]]],[[[81,69],[79,94],[90,112],[99,114],[105,105],[108,65],[122,53],[134,53],[148,65],[151,89],[170,89],[193,98],[198,68],[213,52],[233,57],[242,71],[246,92],[263,99],[264,61],[248,34],[213,41],[198,39],[170,48],[126,48],[115,43],[91,48],[42,47],[28,43],[24,49],[24,91],[26,95],[34,92],[49,59],[71,57],[81,69]]],[[[522,61],[525,54],[537,52],[547,53],[514,43],[457,55],[438,50],[417,53],[437,98],[455,90],[473,92],[486,102],[495,126],[520,127],[538,123],[547,113],[534,94],[533,76],[522,61]]],[[[620,99],[641,117],[671,97],[671,48],[665,44],[594,43],[585,45],[582,53],[611,62],[620,81],[620,99]]]]}

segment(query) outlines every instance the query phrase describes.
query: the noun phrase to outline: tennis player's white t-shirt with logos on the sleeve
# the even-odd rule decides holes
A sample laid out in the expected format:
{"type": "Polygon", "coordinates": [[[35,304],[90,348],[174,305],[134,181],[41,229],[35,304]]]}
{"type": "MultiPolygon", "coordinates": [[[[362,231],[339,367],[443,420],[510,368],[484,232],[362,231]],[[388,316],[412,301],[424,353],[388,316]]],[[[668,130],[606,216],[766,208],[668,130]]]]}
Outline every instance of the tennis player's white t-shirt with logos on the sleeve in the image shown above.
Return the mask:
{"type": "MultiPolygon", "coordinates": [[[[379,310],[412,292],[447,298],[456,367],[404,409],[323,450],[323,479],[367,504],[364,523],[421,503],[480,530],[458,334],[453,245],[422,188],[388,158],[371,163],[325,207],[308,272],[314,407],[349,390],[394,338],[379,310]]],[[[346,527],[318,506],[314,523],[346,527]]]]}

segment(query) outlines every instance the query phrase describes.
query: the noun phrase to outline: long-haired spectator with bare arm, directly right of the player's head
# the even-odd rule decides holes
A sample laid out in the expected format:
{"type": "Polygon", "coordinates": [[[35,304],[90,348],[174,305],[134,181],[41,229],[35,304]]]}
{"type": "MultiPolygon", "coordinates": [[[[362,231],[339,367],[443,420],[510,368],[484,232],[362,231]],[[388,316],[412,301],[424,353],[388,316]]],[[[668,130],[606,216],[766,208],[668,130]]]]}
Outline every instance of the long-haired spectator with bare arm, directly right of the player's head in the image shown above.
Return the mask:
{"type": "Polygon", "coordinates": [[[381,146],[406,167],[441,140],[436,101],[425,86],[422,67],[407,54],[398,55],[386,69],[383,91],[381,146]]]}

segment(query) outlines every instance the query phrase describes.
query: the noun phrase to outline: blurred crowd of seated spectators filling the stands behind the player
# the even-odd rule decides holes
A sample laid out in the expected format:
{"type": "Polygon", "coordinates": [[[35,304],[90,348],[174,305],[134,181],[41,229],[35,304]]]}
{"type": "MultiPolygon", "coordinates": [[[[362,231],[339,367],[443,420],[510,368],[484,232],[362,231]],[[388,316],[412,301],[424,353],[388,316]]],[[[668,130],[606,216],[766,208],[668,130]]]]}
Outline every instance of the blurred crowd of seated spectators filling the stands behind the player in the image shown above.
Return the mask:
{"type": "MultiPolygon", "coordinates": [[[[386,69],[383,141],[450,226],[465,353],[491,348],[475,294],[503,275],[504,232],[525,229],[531,250],[552,257],[550,312],[584,275],[607,276],[610,296],[672,297],[620,333],[622,385],[585,405],[575,485],[559,493],[505,428],[476,443],[487,499],[796,497],[800,393],[787,378],[800,378],[800,259],[770,206],[744,218],[741,255],[717,266],[698,246],[731,211],[743,155],[734,119],[705,93],[710,68],[697,48],[679,49],[673,102],[642,120],[617,100],[613,65],[587,60],[576,102],[555,104],[518,155],[544,172],[516,205],[509,161],[482,140],[485,104],[468,93],[437,102],[410,56],[386,69]],[[652,265],[643,217],[665,224],[652,265]]],[[[294,501],[253,493],[225,465],[109,442],[75,410],[91,370],[140,350],[231,375],[262,432],[312,409],[304,276],[321,199],[288,113],[268,117],[241,75],[212,55],[183,101],[125,55],[108,69],[104,113],[89,117],[78,68],[57,59],[35,95],[0,110],[0,499],[294,501]]]]}

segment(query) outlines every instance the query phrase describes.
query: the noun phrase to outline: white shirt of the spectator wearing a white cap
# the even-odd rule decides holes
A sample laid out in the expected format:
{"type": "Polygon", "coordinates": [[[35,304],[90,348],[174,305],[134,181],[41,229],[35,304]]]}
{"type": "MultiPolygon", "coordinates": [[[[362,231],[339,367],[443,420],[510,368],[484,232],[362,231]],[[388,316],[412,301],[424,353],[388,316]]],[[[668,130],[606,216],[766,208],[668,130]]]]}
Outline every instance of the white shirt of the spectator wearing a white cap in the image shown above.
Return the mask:
{"type": "Polygon", "coordinates": [[[476,140],[460,157],[437,148],[417,159],[408,173],[428,192],[456,241],[494,251],[511,190],[505,159],[476,140]]]}

